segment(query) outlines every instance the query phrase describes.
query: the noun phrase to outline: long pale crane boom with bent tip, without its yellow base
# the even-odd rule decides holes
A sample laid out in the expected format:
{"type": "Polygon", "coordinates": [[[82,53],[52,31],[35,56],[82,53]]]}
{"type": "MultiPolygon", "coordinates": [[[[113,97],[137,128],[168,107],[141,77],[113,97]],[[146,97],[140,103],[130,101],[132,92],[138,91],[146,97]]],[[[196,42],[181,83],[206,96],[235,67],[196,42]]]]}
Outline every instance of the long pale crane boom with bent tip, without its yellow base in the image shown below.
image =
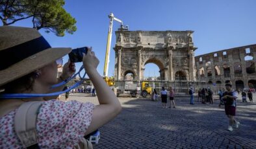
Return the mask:
{"type": "Polygon", "coordinates": [[[109,73],[109,56],[110,56],[110,47],[111,47],[111,40],[112,40],[112,27],[113,27],[113,21],[118,21],[119,23],[121,23],[121,27],[123,26],[123,21],[121,21],[120,19],[114,17],[114,14],[111,13],[109,15],[109,32],[108,32],[108,39],[107,39],[107,49],[106,49],[106,54],[105,54],[105,65],[104,65],[104,72],[103,72],[103,76],[107,77],[108,73],[109,73]]]}

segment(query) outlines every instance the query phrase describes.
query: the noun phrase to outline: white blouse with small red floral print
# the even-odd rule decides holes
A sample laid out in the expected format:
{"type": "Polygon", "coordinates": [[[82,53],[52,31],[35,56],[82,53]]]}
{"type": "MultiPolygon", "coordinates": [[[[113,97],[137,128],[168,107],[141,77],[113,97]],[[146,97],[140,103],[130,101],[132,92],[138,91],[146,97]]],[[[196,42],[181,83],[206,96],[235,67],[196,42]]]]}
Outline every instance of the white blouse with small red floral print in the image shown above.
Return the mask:
{"type": "MultiPolygon", "coordinates": [[[[40,148],[73,148],[90,125],[93,109],[90,102],[44,102],[36,121],[40,148]]],[[[23,148],[14,130],[16,111],[0,118],[0,148],[23,148]]]]}

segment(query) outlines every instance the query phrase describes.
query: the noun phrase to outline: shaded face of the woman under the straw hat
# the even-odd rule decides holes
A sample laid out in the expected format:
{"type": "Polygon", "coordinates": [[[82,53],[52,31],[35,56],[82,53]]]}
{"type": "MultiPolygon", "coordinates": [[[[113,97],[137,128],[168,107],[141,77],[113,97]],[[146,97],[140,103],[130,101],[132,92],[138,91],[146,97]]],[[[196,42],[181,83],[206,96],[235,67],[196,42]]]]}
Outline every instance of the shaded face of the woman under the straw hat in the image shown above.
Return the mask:
{"type": "Polygon", "coordinates": [[[58,66],[56,62],[49,63],[40,69],[40,76],[38,77],[38,81],[44,84],[45,86],[52,86],[53,84],[58,83],[57,73],[58,66]]]}

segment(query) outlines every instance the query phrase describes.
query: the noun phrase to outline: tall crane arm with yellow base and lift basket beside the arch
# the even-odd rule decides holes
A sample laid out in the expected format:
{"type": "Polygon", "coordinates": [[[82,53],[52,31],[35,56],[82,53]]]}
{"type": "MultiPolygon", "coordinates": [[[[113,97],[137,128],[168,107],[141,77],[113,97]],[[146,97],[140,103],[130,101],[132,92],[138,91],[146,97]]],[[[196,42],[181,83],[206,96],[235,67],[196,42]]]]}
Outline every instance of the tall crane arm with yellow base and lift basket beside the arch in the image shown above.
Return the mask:
{"type": "Polygon", "coordinates": [[[114,78],[113,77],[108,77],[108,73],[109,73],[109,56],[110,56],[110,47],[111,47],[111,40],[112,40],[112,28],[113,28],[113,21],[118,21],[119,23],[121,23],[121,27],[120,29],[128,29],[127,26],[123,26],[123,21],[121,21],[120,19],[114,17],[114,14],[111,12],[109,15],[109,32],[108,32],[108,39],[107,39],[107,49],[106,49],[106,54],[105,54],[105,65],[104,65],[104,72],[103,72],[103,78],[105,80],[105,82],[107,82],[107,84],[109,86],[114,86],[114,78]]]}

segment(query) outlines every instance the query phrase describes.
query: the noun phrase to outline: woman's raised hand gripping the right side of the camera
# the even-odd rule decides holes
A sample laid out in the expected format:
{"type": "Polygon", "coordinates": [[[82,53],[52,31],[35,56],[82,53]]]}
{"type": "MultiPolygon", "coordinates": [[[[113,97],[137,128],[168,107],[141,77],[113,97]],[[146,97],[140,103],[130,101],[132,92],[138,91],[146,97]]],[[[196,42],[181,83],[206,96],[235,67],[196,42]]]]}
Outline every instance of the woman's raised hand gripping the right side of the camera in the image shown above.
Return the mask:
{"type": "Polygon", "coordinates": [[[83,54],[83,65],[86,72],[90,72],[97,69],[99,65],[99,60],[96,58],[92,47],[88,47],[87,54],[83,54]]]}

